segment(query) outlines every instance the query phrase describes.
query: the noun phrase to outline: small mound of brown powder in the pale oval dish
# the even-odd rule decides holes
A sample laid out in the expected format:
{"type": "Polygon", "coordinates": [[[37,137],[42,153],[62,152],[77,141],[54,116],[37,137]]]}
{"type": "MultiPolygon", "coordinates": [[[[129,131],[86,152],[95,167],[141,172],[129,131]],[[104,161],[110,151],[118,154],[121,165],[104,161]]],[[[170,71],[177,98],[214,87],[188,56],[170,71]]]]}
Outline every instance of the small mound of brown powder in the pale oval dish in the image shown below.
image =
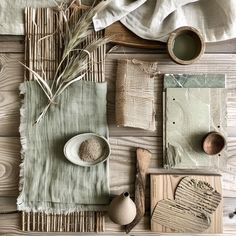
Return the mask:
{"type": "Polygon", "coordinates": [[[106,143],[101,138],[89,138],[79,147],[79,157],[83,161],[92,162],[99,159],[106,151],[106,143]]]}

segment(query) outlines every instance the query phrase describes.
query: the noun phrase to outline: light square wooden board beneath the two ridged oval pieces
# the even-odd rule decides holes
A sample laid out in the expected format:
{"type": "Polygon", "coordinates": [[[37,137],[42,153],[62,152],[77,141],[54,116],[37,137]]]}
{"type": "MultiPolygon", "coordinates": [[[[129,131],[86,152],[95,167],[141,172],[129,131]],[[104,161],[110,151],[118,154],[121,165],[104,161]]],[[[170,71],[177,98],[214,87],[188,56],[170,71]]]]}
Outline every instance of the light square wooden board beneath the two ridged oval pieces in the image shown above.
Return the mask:
{"type": "MultiPolygon", "coordinates": [[[[151,174],[150,176],[150,197],[151,197],[151,215],[158,201],[163,199],[174,199],[174,193],[177,185],[183,177],[188,175],[174,174],[151,174]]],[[[208,182],[213,188],[222,194],[221,176],[218,175],[191,175],[197,180],[208,182]]],[[[164,227],[151,220],[151,230],[155,232],[174,232],[170,228],[164,227]]],[[[216,211],[212,215],[211,226],[204,233],[222,233],[223,232],[223,200],[221,200],[216,211]]]]}

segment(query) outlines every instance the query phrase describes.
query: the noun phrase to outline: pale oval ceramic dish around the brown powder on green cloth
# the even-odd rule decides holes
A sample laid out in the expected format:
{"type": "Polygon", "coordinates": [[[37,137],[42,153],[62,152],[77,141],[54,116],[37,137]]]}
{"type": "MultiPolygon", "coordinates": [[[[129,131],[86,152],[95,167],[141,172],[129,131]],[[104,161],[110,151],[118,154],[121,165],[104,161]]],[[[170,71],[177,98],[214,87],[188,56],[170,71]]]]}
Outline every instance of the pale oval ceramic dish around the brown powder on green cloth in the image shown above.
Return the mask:
{"type": "Polygon", "coordinates": [[[108,143],[108,140],[94,133],[84,133],[76,135],[73,138],[71,138],[64,146],[64,154],[66,158],[70,162],[84,167],[95,166],[101,162],[104,162],[110,156],[110,153],[111,153],[111,147],[110,144],[108,143]],[[103,155],[97,160],[86,162],[79,157],[79,148],[84,141],[93,137],[101,139],[105,144],[106,150],[103,152],[103,155]]]}

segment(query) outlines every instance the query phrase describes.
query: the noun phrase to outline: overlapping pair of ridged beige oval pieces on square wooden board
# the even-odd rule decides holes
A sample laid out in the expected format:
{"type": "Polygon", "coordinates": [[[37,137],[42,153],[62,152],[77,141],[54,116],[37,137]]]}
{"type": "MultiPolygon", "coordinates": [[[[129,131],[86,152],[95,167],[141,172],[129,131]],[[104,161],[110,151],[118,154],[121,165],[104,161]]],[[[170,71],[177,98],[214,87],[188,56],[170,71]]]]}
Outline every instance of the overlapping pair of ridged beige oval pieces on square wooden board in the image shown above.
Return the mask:
{"type": "Polygon", "coordinates": [[[204,232],[220,201],[221,194],[209,183],[185,177],[176,187],[174,200],[157,202],[152,221],[176,232],[204,232]]]}

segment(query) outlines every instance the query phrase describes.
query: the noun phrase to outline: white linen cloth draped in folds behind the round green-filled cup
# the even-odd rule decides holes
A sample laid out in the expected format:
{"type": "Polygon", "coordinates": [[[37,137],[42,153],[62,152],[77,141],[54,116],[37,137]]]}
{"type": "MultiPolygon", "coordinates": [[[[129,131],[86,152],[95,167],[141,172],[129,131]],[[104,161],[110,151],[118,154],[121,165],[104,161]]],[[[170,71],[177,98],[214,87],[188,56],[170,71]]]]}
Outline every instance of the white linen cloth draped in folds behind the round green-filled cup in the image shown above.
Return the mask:
{"type": "Polygon", "coordinates": [[[236,37],[235,0],[111,0],[94,18],[95,30],[120,20],[144,39],[166,41],[170,32],[192,26],[206,42],[236,37]]]}

